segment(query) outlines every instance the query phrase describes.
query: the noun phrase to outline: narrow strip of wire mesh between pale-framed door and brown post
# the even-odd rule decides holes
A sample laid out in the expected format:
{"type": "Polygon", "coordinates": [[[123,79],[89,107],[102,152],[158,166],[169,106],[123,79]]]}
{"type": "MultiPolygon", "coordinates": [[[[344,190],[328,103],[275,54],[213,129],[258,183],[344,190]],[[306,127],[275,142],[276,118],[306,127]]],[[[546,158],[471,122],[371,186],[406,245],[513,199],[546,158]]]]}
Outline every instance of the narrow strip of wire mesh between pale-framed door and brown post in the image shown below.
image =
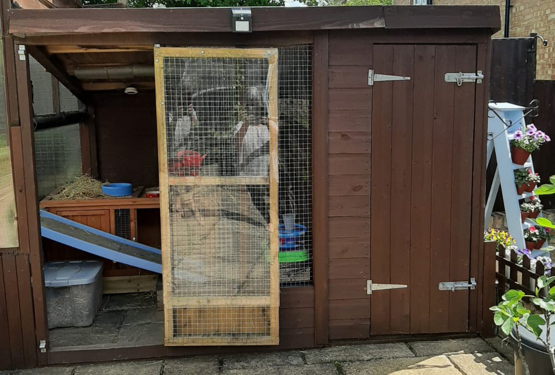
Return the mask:
{"type": "Polygon", "coordinates": [[[304,286],[312,283],[312,46],[278,48],[278,65],[280,286],[304,286]]]}

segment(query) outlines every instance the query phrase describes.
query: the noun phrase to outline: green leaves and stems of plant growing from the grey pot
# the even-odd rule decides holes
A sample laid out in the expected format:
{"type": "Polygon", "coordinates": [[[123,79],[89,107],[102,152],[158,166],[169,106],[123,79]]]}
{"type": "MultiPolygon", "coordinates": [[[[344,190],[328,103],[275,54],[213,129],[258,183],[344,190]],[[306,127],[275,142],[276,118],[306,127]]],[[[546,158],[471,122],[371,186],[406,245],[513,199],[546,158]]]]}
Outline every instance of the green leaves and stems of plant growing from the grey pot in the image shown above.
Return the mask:
{"type": "Polygon", "coordinates": [[[532,332],[543,344],[551,359],[553,373],[555,373],[555,347],[551,344],[550,335],[551,326],[555,325],[555,321],[552,320],[552,317],[555,315],[555,286],[549,287],[553,281],[555,281],[555,276],[541,276],[536,282],[536,291],[533,296],[527,296],[522,291],[509,290],[501,297],[502,301],[497,306],[490,307],[490,310],[494,312],[493,322],[501,328],[505,335],[510,335],[513,327],[516,327],[514,337],[517,340],[517,351],[522,358],[524,371],[528,375],[530,371],[522,353],[522,339],[518,332],[519,327],[532,332]],[[544,317],[536,313],[532,314],[528,308],[524,307],[522,303],[523,298],[531,298],[533,304],[543,311],[544,317]],[[546,321],[548,322],[547,324],[546,321]],[[546,330],[545,339],[541,337],[543,332],[542,326],[545,326],[546,330]]]}

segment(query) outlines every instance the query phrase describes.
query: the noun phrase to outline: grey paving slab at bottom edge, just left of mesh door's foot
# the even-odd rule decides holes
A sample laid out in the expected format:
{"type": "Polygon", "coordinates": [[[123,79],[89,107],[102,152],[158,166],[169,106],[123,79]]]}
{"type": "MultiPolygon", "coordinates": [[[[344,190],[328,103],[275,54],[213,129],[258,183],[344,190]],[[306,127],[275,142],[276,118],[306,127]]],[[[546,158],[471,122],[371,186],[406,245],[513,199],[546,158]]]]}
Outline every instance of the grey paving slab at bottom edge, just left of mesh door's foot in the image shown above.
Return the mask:
{"type": "Polygon", "coordinates": [[[88,364],[76,367],[74,375],[160,375],[162,364],[163,361],[88,364]]]}

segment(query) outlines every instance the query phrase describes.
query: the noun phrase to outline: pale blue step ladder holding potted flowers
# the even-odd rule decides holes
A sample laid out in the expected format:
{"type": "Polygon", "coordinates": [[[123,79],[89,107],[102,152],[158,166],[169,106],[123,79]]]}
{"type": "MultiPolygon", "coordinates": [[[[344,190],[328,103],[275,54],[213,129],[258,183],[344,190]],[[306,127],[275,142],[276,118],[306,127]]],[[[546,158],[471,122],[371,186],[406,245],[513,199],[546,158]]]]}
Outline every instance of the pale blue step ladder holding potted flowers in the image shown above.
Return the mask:
{"type": "MultiPolygon", "coordinates": [[[[486,166],[490,164],[491,155],[495,150],[497,159],[497,169],[493,177],[490,194],[486,201],[486,230],[493,210],[493,204],[497,197],[499,186],[503,195],[505,215],[507,217],[507,227],[509,234],[516,241],[519,249],[526,248],[523,230],[531,226],[529,221],[522,222],[519,200],[529,198],[533,192],[517,194],[516,184],[514,183],[514,171],[521,168],[528,168],[535,173],[532,155],[528,157],[524,165],[514,164],[511,157],[511,140],[514,132],[525,126],[524,110],[527,108],[512,103],[489,103],[488,105],[488,141],[486,166]]],[[[541,214],[540,214],[541,216],[541,214]]],[[[547,242],[546,242],[547,244],[547,242]]],[[[544,245],[546,246],[546,245],[544,245]]],[[[543,254],[540,250],[532,251],[532,256],[543,254]]]]}

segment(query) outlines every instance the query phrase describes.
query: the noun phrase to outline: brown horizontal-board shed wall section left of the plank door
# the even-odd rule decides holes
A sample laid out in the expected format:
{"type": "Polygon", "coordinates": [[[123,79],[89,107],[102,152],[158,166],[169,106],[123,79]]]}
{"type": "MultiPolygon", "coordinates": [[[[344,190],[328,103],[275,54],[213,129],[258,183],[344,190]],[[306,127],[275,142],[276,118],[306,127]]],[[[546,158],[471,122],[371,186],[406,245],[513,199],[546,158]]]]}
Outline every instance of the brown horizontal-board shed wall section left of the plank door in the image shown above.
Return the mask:
{"type": "Polygon", "coordinates": [[[329,34],[330,339],[370,337],[370,296],[365,290],[370,278],[372,124],[368,39],[365,32],[329,34]]]}

